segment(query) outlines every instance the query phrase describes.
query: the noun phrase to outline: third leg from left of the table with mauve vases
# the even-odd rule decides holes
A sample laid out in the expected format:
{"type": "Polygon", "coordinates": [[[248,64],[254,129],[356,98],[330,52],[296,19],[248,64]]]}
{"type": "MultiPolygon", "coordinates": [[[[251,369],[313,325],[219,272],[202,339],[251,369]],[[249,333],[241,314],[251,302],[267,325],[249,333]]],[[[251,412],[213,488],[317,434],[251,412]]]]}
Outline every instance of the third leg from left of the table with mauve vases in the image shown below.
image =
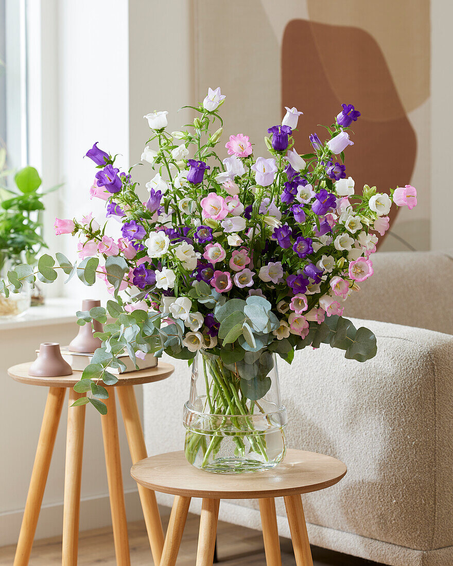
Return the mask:
{"type": "Polygon", "coordinates": [[[105,465],[109,484],[110,511],[118,566],[130,566],[129,538],[127,537],[126,506],[124,502],[121,455],[119,453],[115,388],[109,388],[109,398],[103,400],[107,414],[101,416],[104,439],[105,465]]]}

